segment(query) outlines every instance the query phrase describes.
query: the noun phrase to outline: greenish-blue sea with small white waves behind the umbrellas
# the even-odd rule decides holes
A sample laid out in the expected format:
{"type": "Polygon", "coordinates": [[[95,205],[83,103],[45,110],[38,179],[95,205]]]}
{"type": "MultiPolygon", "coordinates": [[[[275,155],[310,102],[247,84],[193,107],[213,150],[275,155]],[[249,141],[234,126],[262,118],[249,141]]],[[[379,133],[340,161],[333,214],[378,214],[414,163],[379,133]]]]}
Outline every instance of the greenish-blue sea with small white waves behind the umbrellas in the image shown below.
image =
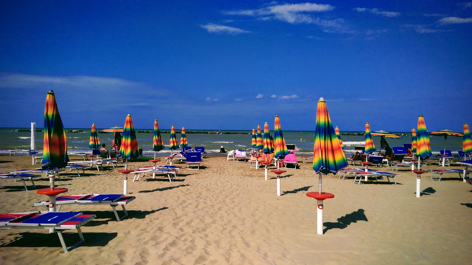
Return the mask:
{"type": "MultiPolygon", "coordinates": [[[[10,154],[9,150],[12,149],[30,149],[31,132],[18,132],[18,129],[30,129],[30,128],[0,128],[0,154],[10,154]]],[[[41,130],[42,128],[36,128],[41,130]]],[[[90,139],[90,128],[66,128],[66,130],[82,130],[84,132],[66,132],[67,136],[67,152],[80,152],[90,153],[91,150],[88,148],[90,139]]],[[[102,129],[98,129],[100,131],[102,129]]],[[[135,131],[152,131],[153,129],[136,129],[135,131]]],[[[170,129],[161,129],[160,131],[170,132],[170,129]]],[[[186,130],[187,141],[189,146],[192,147],[205,147],[207,155],[220,154],[220,147],[223,146],[225,150],[235,149],[235,145],[245,145],[247,149],[251,148],[251,130],[186,130]],[[191,132],[202,132],[202,133],[189,133],[191,132]],[[203,132],[218,132],[218,133],[203,133],[203,132]],[[231,134],[225,134],[229,132],[231,134]],[[239,133],[239,134],[233,134],[239,133]]],[[[363,133],[363,132],[347,132],[343,133],[363,133]]],[[[409,134],[411,132],[392,132],[395,134],[409,134]]],[[[36,151],[39,154],[42,153],[43,145],[43,132],[35,133],[36,151]]],[[[162,141],[164,142],[165,149],[160,150],[156,153],[157,156],[168,156],[169,150],[169,133],[161,133],[162,141]]],[[[270,135],[274,135],[271,131],[270,135]]],[[[313,144],[314,144],[314,131],[283,131],[284,139],[287,144],[295,144],[297,146],[297,155],[312,155],[313,144]],[[300,138],[303,141],[300,141],[300,138]],[[307,141],[304,141],[305,138],[307,141]]],[[[154,151],[152,150],[152,133],[138,132],[136,137],[138,140],[139,148],[143,149],[144,156],[153,156],[154,151]]],[[[99,133],[98,137],[100,143],[105,143],[106,148],[111,148],[111,141],[114,139],[113,133],[99,133]]],[[[346,156],[352,156],[354,154],[354,146],[364,145],[364,136],[361,135],[341,135],[341,140],[344,144],[344,152],[346,156]]],[[[373,136],[374,144],[377,150],[380,149],[380,137],[373,136]]],[[[177,132],[177,141],[180,141],[180,133],[177,132]]],[[[411,143],[411,136],[404,136],[402,139],[390,139],[387,138],[387,142],[390,147],[403,146],[404,143],[411,143]]],[[[457,150],[462,150],[462,137],[451,137],[447,138],[445,142],[442,136],[430,136],[431,151],[433,154],[438,154],[439,150],[446,149],[452,150],[453,154],[457,154],[457,150]]],[[[25,152],[19,152],[17,155],[26,155],[25,152]]]]}

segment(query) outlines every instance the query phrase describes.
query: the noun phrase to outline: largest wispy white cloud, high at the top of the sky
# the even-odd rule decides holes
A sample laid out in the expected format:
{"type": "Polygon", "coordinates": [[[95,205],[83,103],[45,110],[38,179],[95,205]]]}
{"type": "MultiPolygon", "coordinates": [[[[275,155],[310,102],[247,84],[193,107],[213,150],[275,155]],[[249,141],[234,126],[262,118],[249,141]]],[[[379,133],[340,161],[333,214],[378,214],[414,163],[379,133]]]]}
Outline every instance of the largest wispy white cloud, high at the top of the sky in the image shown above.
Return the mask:
{"type": "Polygon", "coordinates": [[[329,4],[301,3],[271,5],[260,9],[223,11],[226,15],[257,17],[259,20],[279,20],[291,24],[315,24],[325,28],[343,28],[344,19],[321,19],[307,13],[331,11],[335,7],[329,4]]]}

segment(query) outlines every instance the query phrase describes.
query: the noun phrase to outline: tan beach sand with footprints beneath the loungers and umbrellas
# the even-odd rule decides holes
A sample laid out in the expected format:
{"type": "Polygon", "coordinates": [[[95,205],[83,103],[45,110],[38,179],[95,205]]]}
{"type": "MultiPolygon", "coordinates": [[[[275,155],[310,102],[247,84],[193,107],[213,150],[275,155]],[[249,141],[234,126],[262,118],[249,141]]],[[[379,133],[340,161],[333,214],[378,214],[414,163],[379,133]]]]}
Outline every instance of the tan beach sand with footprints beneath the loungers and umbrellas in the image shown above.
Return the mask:
{"type": "MultiPolygon", "coordinates": [[[[0,156],[0,162],[2,173],[32,167],[28,156],[0,156]]],[[[433,168],[438,166],[424,167],[433,168]]],[[[62,207],[97,215],[82,227],[85,242],[68,253],[46,230],[1,229],[1,263],[469,264],[472,187],[457,174],[444,174],[438,182],[427,173],[421,178],[425,192],[415,198],[416,177],[407,169],[398,171],[398,185],[385,178],[355,185],[352,177],[324,176],[323,191],[335,197],[324,201],[325,234],[318,235],[316,200],[305,195],[318,191],[311,164],[287,169],[277,196],[275,174],[269,172],[265,181],[264,170],[249,163],[208,157],[200,170],[179,170],[174,182],[163,176],[132,182],[131,177],[128,195],[136,199],[126,205],[129,216],[120,222],[111,207],[62,207]]],[[[117,169],[85,172],[78,177],[67,171],[56,185],[69,190],[65,195],[123,192],[117,169]]],[[[36,185],[47,188],[49,181],[42,178],[36,185]]],[[[21,182],[0,180],[1,213],[45,210],[31,207],[45,199],[34,189],[25,191],[21,182]]],[[[65,239],[68,246],[75,243],[76,230],[66,232],[65,239]]]]}

